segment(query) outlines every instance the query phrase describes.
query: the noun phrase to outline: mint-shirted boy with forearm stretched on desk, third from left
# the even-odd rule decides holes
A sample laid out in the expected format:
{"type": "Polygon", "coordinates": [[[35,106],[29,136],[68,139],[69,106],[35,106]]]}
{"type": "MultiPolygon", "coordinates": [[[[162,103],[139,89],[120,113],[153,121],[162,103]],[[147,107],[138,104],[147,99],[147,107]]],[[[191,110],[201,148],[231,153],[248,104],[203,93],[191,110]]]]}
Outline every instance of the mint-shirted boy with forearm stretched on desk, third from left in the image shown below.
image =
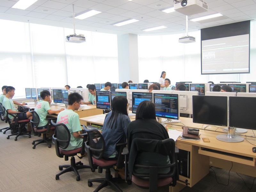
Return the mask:
{"type": "Polygon", "coordinates": [[[47,112],[49,114],[59,113],[63,111],[64,108],[55,111],[51,110],[51,93],[48,90],[40,92],[40,97],[42,97],[43,100],[39,100],[35,108],[35,111],[40,118],[40,122],[38,124],[37,129],[44,129],[47,128],[48,125],[48,121],[46,120],[47,112]]]}

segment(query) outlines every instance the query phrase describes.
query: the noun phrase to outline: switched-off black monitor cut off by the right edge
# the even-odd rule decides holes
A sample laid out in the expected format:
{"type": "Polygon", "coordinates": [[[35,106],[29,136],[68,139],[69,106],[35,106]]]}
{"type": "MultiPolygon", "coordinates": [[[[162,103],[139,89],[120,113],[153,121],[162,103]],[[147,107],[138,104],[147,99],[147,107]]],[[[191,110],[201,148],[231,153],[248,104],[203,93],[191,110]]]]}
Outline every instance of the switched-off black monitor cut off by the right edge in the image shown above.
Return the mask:
{"type": "Polygon", "coordinates": [[[256,97],[229,97],[229,127],[256,130],[256,110],[252,106],[256,106],[256,97]]]}

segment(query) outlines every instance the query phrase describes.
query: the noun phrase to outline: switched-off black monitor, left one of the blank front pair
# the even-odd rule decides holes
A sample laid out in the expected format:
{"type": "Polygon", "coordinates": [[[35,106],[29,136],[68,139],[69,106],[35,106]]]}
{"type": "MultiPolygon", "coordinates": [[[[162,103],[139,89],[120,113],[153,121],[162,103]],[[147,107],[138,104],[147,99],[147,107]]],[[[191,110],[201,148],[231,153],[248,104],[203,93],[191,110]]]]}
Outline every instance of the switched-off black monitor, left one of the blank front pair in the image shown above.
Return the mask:
{"type": "Polygon", "coordinates": [[[192,103],[193,123],[228,126],[228,97],[193,95],[192,103]]]}

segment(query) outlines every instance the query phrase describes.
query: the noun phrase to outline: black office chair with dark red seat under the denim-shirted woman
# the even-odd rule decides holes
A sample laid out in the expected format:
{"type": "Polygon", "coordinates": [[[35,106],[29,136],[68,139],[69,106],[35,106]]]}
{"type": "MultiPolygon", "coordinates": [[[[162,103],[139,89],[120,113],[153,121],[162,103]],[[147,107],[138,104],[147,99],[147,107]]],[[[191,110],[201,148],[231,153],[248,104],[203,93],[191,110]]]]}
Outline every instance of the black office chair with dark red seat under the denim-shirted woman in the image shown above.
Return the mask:
{"type": "Polygon", "coordinates": [[[94,192],[99,191],[100,189],[106,186],[112,186],[116,191],[122,192],[122,190],[116,185],[117,181],[124,181],[121,178],[112,178],[110,168],[114,165],[118,169],[124,167],[124,159],[122,155],[122,151],[126,143],[117,144],[118,158],[116,160],[105,160],[103,158],[104,150],[105,150],[105,140],[100,134],[100,132],[96,129],[86,129],[84,126],[84,130],[87,132],[87,141],[85,142],[85,148],[88,154],[88,161],[90,166],[93,169],[97,169],[98,172],[102,173],[102,169],[106,169],[105,178],[98,179],[89,179],[88,186],[92,187],[92,182],[98,182],[100,185],[94,190],[94,192]]]}

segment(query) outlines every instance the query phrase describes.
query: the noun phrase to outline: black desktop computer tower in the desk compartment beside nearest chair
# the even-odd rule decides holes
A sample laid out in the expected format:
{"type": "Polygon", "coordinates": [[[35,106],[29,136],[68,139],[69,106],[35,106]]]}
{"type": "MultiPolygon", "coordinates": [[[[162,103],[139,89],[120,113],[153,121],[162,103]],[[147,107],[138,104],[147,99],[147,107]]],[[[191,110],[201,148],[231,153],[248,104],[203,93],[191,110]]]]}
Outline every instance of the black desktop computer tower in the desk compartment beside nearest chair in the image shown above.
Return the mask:
{"type": "Polygon", "coordinates": [[[178,153],[179,174],[190,177],[190,152],[179,149],[178,153]]]}

